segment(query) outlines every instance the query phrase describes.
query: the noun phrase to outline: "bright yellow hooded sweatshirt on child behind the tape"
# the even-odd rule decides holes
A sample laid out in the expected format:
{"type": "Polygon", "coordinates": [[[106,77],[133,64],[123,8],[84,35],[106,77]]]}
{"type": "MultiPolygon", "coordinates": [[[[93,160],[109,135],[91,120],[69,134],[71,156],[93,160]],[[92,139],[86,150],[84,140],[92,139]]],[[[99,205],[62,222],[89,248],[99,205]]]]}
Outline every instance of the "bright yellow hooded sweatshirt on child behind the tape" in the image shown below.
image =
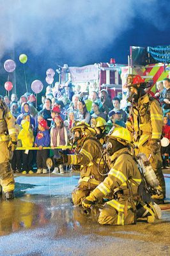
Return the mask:
{"type": "Polygon", "coordinates": [[[18,140],[21,140],[22,147],[33,147],[33,131],[29,128],[30,123],[27,120],[21,121],[22,130],[19,132],[18,140]]]}

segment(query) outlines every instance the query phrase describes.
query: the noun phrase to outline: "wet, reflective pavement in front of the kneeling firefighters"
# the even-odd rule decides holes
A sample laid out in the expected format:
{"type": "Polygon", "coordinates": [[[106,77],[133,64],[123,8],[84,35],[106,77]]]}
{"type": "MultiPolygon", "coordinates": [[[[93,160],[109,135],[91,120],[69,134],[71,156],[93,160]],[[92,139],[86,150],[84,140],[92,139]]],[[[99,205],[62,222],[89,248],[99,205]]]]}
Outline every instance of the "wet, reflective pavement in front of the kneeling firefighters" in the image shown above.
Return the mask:
{"type": "Polygon", "coordinates": [[[79,176],[17,175],[15,199],[0,199],[0,255],[170,255],[169,178],[161,220],[101,226],[70,202],[79,176]]]}

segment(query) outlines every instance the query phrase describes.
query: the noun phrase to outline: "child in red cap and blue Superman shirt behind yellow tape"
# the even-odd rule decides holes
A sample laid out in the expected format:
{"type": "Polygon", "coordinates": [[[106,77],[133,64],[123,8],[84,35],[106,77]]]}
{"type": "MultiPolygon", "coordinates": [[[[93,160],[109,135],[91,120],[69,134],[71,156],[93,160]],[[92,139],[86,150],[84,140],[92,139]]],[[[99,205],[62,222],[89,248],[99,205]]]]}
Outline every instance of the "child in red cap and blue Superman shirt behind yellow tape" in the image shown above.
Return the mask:
{"type": "Polygon", "coordinates": [[[49,147],[50,134],[47,121],[42,119],[38,122],[38,133],[35,138],[35,147],[39,147],[40,150],[36,154],[37,174],[47,173],[46,159],[49,156],[49,150],[43,149],[43,147],[49,147]],[[42,150],[43,149],[43,150],[42,150]]]}

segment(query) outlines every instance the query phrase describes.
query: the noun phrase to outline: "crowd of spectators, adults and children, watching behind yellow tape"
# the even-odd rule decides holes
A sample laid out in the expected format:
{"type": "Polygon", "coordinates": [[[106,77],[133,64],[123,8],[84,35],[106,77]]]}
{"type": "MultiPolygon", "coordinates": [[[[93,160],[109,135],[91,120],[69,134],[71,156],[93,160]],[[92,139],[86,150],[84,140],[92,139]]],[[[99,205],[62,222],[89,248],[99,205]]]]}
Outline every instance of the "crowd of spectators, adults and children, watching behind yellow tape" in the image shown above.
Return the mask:
{"type": "MultiPolygon", "coordinates": [[[[170,79],[157,83],[156,97],[162,106],[164,126],[162,137],[170,140],[170,79]]],[[[129,115],[130,104],[123,104],[120,97],[111,99],[107,89],[98,91],[97,84],[86,86],[86,92],[81,92],[79,84],[61,86],[55,83],[54,87],[47,86],[42,102],[37,104],[33,93],[24,93],[18,99],[12,93],[1,96],[16,118],[16,128],[19,134],[17,147],[39,147],[40,150],[15,150],[12,159],[13,172],[33,173],[33,163],[36,163],[36,173],[47,173],[45,159],[50,147],[54,156],[59,155],[55,147],[68,145],[72,137],[71,129],[75,122],[84,121],[90,124],[91,118],[100,116],[107,124],[112,123],[125,127],[129,115]],[[35,154],[36,152],[36,154],[35,154]]],[[[50,152],[51,154],[51,152],[50,152]]],[[[169,164],[169,146],[162,148],[164,167],[169,164]]],[[[55,168],[54,173],[64,173],[63,166],[55,168]]]]}

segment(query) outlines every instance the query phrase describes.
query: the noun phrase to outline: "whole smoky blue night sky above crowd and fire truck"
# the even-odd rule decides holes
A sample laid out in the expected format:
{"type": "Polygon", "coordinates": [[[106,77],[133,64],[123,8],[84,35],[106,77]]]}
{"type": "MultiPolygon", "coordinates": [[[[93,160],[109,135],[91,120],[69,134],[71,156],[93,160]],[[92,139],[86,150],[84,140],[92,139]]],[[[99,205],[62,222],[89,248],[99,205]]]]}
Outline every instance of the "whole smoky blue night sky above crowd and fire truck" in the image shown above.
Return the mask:
{"type": "Polygon", "coordinates": [[[27,54],[30,88],[35,79],[45,83],[45,71],[57,64],[110,58],[126,64],[130,45],[169,45],[169,6],[169,0],[0,0],[0,93],[8,77],[5,60],[15,60],[10,78],[24,84],[21,53],[27,54]]]}

